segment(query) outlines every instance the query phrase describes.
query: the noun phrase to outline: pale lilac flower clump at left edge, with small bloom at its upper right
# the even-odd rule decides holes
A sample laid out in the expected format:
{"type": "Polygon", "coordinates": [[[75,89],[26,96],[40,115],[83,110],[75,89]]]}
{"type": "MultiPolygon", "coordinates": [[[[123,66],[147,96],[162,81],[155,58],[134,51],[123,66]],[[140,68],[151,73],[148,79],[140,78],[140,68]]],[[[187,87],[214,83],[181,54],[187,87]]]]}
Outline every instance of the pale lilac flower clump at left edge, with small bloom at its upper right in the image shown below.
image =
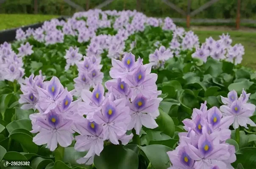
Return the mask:
{"type": "MultiPolygon", "coordinates": [[[[31,54],[31,46],[27,43],[22,45],[23,53],[19,52],[19,55],[11,49],[11,44],[4,42],[0,46],[0,80],[8,80],[14,82],[17,80],[19,83],[22,82],[22,77],[24,76],[24,69],[22,57],[25,54],[31,54]],[[21,54],[22,53],[22,54],[21,54]]],[[[20,49],[20,48],[19,48],[20,49]]]]}

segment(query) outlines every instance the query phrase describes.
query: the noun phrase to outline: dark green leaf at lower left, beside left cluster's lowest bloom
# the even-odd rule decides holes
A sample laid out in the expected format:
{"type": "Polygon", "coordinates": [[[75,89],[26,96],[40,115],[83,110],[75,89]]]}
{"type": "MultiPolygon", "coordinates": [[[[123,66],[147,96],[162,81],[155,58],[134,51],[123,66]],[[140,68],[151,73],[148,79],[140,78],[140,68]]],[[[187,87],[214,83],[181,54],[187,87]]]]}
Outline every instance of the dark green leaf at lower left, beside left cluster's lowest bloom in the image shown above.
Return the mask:
{"type": "MultiPolygon", "coordinates": [[[[24,130],[23,130],[24,131],[24,130]]],[[[9,137],[19,142],[29,153],[37,153],[38,146],[33,142],[33,137],[19,128],[11,131],[9,137]]]]}

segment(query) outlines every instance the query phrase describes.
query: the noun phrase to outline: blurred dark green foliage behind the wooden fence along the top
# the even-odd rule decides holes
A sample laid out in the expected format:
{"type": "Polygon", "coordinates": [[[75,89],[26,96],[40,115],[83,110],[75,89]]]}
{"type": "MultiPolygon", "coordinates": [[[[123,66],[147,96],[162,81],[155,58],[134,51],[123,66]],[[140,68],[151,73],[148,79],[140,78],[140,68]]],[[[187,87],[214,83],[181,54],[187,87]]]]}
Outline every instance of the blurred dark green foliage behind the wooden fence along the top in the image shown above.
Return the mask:
{"type": "MultiPolygon", "coordinates": [[[[38,14],[71,16],[76,11],[64,0],[37,0],[38,14]]],[[[86,9],[87,0],[72,0],[86,9]]],[[[92,9],[105,0],[90,0],[89,8],[92,9]]],[[[187,9],[187,0],[169,0],[184,11],[187,9]]],[[[191,11],[199,8],[209,0],[192,0],[191,11]]],[[[34,14],[34,0],[6,0],[0,4],[2,14],[34,14]]],[[[136,9],[136,0],[114,0],[103,10],[121,11],[123,9],[136,9]]],[[[161,0],[140,0],[140,11],[147,16],[181,18],[182,16],[168,7],[161,0]]],[[[230,19],[236,17],[237,0],[219,0],[211,7],[197,14],[193,18],[230,19]]],[[[256,19],[256,0],[241,0],[241,18],[256,19]]]]}

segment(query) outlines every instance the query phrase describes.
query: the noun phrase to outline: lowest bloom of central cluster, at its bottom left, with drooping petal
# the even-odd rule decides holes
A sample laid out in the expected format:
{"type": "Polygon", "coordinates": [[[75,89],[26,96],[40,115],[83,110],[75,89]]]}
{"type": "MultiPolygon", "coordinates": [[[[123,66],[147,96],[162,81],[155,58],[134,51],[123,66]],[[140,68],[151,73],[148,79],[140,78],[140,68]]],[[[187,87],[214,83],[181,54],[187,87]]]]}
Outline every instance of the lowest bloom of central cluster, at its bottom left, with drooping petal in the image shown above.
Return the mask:
{"type": "Polygon", "coordinates": [[[76,123],[75,127],[76,131],[81,134],[80,136],[75,136],[75,150],[88,151],[86,156],[78,159],[77,162],[79,164],[91,165],[94,156],[100,156],[100,152],[103,150],[103,127],[87,119],[83,119],[82,123],[76,123]]]}

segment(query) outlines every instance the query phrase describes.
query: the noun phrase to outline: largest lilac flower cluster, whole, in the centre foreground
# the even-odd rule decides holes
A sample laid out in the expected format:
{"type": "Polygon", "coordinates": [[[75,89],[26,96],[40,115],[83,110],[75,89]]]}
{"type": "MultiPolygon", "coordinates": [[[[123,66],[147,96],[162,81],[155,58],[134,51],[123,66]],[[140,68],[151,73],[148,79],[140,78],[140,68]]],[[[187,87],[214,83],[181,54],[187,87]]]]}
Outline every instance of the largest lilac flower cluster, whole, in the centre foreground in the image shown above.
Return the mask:
{"type": "Polygon", "coordinates": [[[92,164],[95,155],[103,150],[103,141],[112,144],[127,144],[133,134],[126,132],[135,129],[136,134],[144,125],[156,128],[159,115],[157,98],[157,75],[150,73],[151,65],[143,65],[142,59],[135,61],[135,56],[126,53],[121,60],[112,59],[110,76],[114,79],[106,82],[108,93],[100,83],[91,92],[83,90],[83,102],[78,104],[79,114],[86,115],[75,128],[81,136],[76,136],[75,150],[88,151],[78,163],[92,164]]]}

